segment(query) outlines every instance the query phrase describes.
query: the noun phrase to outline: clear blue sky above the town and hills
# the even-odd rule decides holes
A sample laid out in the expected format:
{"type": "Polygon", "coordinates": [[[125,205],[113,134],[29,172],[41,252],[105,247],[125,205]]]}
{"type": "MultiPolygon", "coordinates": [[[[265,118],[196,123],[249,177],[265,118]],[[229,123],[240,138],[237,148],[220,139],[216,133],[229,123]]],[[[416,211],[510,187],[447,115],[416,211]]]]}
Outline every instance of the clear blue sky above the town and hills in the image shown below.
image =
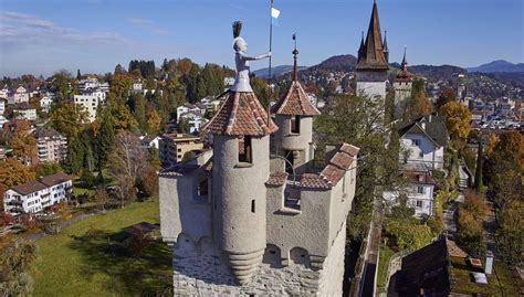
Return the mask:
{"type": "MultiPolygon", "coordinates": [[[[273,64],[356,54],[373,0],[275,0],[273,64]]],[[[476,66],[524,62],[523,0],[378,0],[390,60],[408,47],[410,64],[476,66]]],[[[0,76],[65,68],[112,72],[129,60],[188,56],[233,64],[231,22],[244,23],[250,54],[268,51],[269,0],[0,0],[0,76]]],[[[259,62],[252,68],[264,67],[259,62]]]]}

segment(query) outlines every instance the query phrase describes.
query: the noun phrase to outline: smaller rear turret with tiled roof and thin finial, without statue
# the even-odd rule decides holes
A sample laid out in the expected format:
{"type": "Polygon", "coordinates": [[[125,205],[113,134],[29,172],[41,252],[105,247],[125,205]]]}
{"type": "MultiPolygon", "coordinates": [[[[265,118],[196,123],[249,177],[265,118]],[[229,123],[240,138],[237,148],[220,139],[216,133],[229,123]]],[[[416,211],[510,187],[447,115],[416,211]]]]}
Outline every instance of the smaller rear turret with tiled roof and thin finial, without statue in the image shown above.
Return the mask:
{"type": "Polygon", "coordinates": [[[287,173],[303,173],[305,165],[314,159],[313,117],[321,114],[312,105],[300,83],[297,55],[298,51],[295,49],[290,87],[272,108],[280,127],[275,135],[275,149],[279,156],[287,160],[287,173]]]}

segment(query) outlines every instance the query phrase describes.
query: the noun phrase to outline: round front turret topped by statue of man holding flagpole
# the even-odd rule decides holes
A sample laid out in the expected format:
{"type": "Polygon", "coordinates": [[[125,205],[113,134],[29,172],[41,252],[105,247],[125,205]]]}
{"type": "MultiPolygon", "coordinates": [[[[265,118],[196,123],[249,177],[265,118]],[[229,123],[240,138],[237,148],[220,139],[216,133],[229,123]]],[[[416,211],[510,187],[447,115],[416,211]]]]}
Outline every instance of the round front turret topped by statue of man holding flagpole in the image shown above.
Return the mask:
{"type": "Polygon", "coordinates": [[[247,43],[233,23],[237,77],[228,98],[203,131],[213,135],[213,240],[240,285],[262,263],[265,241],[265,182],[270,135],[276,125],[251,89],[247,43]]]}

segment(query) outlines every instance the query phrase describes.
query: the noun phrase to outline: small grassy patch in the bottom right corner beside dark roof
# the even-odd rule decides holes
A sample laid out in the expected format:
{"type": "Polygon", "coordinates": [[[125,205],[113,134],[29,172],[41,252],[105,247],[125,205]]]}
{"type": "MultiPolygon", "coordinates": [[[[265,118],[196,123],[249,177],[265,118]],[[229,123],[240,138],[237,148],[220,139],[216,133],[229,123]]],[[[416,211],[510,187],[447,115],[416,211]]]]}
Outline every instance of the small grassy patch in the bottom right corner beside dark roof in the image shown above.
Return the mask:
{"type": "Polygon", "coordinates": [[[520,296],[520,280],[505,263],[495,261],[494,272],[496,275],[493,273],[488,277],[488,285],[480,285],[472,280],[471,273],[482,272],[482,269],[475,271],[467,263],[465,258],[450,257],[450,259],[451,273],[454,278],[453,293],[482,294],[482,296],[520,296]],[[499,285],[499,279],[501,285],[499,285]],[[504,294],[502,294],[501,286],[504,294]]]}

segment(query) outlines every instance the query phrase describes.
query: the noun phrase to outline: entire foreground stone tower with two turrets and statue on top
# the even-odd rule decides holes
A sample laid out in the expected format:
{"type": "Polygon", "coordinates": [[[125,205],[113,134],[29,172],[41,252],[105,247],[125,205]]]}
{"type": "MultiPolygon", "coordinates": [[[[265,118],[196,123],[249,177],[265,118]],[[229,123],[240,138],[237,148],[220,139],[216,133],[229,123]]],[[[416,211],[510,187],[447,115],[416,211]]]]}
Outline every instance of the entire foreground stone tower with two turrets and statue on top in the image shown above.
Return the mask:
{"type": "Polygon", "coordinates": [[[342,296],[359,149],[331,144],[324,167],[304,161],[300,174],[284,171],[285,158],[270,159],[270,135],[291,129],[295,116],[301,132],[277,139],[290,151],[306,151],[318,110],[295,67],[275,107],[282,126],[273,124],[249,81],[248,61],[268,55],[247,56],[247,43],[234,38],[235,83],[202,129],[212,135],[212,150],[159,173],[175,296],[342,296]]]}

